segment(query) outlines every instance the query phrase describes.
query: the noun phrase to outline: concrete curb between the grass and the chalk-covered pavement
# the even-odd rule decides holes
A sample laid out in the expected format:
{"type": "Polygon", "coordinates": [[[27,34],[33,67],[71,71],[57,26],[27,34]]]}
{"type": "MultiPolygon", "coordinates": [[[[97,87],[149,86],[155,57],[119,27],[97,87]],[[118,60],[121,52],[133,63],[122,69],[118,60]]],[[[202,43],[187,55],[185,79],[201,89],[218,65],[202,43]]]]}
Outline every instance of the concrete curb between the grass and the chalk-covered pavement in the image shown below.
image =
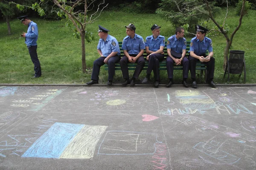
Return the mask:
{"type": "MultiPolygon", "coordinates": [[[[108,86],[107,84],[95,84],[95,85],[87,85],[87,84],[0,84],[0,86],[70,86],[70,87],[79,87],[79,86],[84,86],[84,87],[117,87],[121,86],[124,87],[122,84],[113,84],[111,86],[108,86]]],[[[134,87],[154,87],[153,84],[136,84],[134,87]]],[[[172,85],[172,87],[180,87],[183,85],[172,85]]],[[[208,86],[208,84],[198,84],[199,87],[202,86],[208,86]]],[[[217,84],[218,86],[227,86],[227,87],[250,87],[250,86],[256,86],[256,84],[217,84]]],[[[130,85],[127,85],[127,87],[130,87],[130,85]]],[[[159,87],[166,87],[165,84],[160,84],[159,87]]]]}

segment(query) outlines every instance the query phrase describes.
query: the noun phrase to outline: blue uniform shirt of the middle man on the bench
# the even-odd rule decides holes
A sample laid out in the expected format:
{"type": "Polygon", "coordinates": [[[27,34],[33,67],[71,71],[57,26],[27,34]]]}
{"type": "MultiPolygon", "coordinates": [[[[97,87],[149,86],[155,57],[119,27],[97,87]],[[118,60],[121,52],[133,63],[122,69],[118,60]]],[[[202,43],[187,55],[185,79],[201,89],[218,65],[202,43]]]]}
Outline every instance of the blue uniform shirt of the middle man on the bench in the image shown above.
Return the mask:
{"type": "Polygon", "coordinates": [[[165,47],[165,38],[162,35],[157,36],[154,39],[154,36],[146,37],[145,46],[148,47],[149,51],[157,51],[160,49],[160,46],[165,47]]]}

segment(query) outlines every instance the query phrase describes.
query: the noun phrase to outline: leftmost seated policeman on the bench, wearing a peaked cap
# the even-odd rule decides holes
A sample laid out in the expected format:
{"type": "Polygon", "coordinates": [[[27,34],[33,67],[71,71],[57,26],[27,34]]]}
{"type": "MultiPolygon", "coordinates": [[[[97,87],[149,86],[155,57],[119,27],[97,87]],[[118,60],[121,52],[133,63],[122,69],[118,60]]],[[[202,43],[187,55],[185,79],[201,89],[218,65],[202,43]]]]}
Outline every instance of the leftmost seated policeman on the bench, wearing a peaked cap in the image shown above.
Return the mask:
{"type": "Polygon", "coordinates": [[[87,82],[87,85],[98,84],[99,70],[102,65],[108,63],[108,85],[112,85],[115,74],[115,63],[120,60],[120,49],[115,37],[108,34],[108,29],[99,26],[99,43],[97,51],[101,57],[93,62],[92,81],[87,82]]]}

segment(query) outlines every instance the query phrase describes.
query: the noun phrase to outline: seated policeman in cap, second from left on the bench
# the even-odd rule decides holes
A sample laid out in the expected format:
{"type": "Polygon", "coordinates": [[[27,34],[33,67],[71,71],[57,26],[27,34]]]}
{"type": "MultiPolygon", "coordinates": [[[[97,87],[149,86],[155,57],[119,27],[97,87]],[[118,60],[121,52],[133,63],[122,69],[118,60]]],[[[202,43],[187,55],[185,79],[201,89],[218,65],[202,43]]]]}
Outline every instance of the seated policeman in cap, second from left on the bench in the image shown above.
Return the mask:
{"type": "Polygon", "coordinates": [[[145,44],[143,37],[138,34],[135,34],[136,27],[133,24],[125,26],[127,36],[123,39],[122,49],[124,50],[125,56],[120,60],[120,66],[122,70],[123,78],[125,82],[122,85],[126,86],[130,84],[131,86],[135,85],[135,79],[140,75],[140,72],[143,70],[145,64],[145,59],[143,57],[145,44]],[[131,81],[129,79],[128,66],[129,63],[137,63],[133,77],[131,81]]]}

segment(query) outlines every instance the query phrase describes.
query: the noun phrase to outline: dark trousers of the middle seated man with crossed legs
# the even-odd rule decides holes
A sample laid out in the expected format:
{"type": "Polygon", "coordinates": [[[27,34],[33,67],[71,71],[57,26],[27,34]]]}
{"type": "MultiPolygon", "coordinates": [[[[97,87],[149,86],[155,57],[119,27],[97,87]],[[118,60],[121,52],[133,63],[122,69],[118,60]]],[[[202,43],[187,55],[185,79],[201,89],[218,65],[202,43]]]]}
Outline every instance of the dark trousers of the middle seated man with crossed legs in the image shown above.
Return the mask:
{"type": "Polygon", "coordinates": [[[163,58],[164,58],[163,54],[151,54],[148,57],[147,74],[151,74],[153,70],[155,81],[157,80],[159,81],[160,79],[159,62],[163,61],[163,58]]]}

